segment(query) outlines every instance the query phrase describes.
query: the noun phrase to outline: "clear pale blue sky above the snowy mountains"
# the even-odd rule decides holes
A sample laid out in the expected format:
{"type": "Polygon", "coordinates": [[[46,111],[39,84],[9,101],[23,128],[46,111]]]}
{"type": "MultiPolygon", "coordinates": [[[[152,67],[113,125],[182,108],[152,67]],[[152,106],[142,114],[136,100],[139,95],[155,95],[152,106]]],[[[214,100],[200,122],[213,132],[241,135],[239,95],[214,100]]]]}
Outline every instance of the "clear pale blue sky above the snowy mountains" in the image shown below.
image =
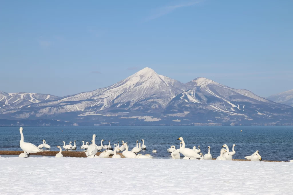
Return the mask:
{"type": "Polygon", "coordinates": [[[0,90],[69,95],[144,67],[293,89],[293,1],[1,1],[0,90]]]}

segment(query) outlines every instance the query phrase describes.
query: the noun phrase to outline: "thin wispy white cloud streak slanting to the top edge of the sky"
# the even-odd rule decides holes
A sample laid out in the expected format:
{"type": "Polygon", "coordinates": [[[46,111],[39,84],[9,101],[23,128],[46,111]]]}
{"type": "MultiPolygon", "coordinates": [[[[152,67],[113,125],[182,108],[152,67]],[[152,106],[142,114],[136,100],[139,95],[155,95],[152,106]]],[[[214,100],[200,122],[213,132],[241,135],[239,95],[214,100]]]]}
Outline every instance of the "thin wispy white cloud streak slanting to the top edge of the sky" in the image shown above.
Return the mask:
{"type": "Polygon", "coordinates": [[[161,8],[156,9],[151,16],[149,16],[146,21],[149,20],[154,20],[156,18],[159,18],[161,16],[164,16],[172,11],[175,11],[178,8],[182,7],[189,7],[189,6],[194,6],[195,4],[198,4],[200,1],[195,1],[195,2],[190,2],[186,4],[177,4],[177,5],[172,5],[172,6],[163,6],[161,8]]]}

